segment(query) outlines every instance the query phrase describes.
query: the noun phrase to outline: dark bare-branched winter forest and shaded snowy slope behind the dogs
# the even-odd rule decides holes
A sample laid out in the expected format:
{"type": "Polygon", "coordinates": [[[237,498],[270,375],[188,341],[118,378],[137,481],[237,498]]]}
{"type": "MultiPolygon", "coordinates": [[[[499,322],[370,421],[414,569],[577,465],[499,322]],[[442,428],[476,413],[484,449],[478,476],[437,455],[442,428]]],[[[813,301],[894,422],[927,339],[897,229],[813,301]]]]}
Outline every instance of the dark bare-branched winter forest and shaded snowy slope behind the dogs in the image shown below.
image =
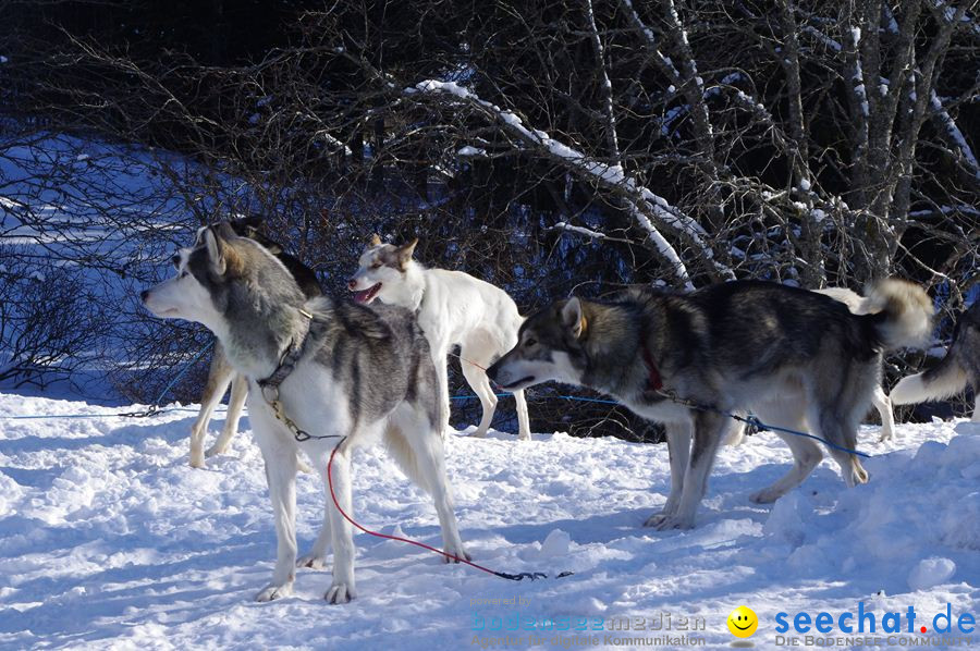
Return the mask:
{"type": "MultiPolygon", "coordinates": [[[[633,283],[887,274],[956,312],[977,283],[976,9],[4,2],[0,378],[98,369],[89,394],[152,400],[210,335],[135,296],[235,214],[339,291],[377,232],[526,314],[633,283]]],[[[644,437],[618,410],[536,412],[644,437]]]]}

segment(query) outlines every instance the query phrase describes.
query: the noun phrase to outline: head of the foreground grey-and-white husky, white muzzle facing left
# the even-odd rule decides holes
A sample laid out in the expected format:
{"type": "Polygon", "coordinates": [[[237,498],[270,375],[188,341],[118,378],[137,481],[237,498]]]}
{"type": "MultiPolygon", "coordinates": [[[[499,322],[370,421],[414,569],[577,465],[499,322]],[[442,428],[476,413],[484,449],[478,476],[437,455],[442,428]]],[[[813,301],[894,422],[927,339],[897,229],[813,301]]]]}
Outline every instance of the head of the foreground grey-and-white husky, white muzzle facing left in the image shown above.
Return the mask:
{"type": "Polygon", "coordinates": [[[177,250],[171,262],[175,275],[139,295],[144,306],[163,319],[196,321],[222,332],[234,288],[256,285],[259,279],[270,300],[303,302],[282,262],[255,241],[238,236],[229,222],[199,229],[194,244],[177,250]]]}

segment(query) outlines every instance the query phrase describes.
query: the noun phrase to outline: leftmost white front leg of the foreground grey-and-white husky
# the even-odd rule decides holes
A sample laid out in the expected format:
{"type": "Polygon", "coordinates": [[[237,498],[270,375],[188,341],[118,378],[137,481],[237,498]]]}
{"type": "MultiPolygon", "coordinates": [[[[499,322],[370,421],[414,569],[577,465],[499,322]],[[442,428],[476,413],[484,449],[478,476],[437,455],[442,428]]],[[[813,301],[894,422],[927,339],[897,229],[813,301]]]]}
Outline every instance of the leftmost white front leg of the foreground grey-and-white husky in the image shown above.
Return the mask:
{"type": "Polygon", "coordinates": [[[266,462],[266,478],[275,519],[277,558],[272,581],[257,595],[256,601],[272,601],[293,593],[296,578],[296,452],[283,442],[278,425],[265,412],[253,414],[256,443],[266,462]]]}

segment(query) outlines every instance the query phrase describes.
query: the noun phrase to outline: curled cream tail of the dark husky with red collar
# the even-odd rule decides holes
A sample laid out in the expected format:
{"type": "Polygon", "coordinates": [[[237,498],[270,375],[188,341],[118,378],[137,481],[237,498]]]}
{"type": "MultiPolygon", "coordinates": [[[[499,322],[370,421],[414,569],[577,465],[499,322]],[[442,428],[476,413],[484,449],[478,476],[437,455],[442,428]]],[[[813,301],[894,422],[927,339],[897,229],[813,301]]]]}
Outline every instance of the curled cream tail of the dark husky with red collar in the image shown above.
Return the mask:
{"type": "Polygon", "coordinates": [[[866,309],[881,346],[921,346],[932,333],[932,300],[919,285],[889,278],[868,292],[866,309]]]}

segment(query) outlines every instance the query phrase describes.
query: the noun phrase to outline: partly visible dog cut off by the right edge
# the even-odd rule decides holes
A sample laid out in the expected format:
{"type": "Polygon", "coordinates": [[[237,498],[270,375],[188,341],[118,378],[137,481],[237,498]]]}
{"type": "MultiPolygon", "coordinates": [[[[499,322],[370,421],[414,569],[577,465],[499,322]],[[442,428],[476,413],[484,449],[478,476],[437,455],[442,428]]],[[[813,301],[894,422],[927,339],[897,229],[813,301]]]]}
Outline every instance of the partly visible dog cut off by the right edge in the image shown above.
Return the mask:
{"type": "Polygon", "coordinates": [[[973,422],[980,422],[980,300],[959,315],[953,329],[953,342],[942,361],[923,373],[916,373],[895,384],[892,402],[910,405],[952,397],[973,389],[973,422]]]}

